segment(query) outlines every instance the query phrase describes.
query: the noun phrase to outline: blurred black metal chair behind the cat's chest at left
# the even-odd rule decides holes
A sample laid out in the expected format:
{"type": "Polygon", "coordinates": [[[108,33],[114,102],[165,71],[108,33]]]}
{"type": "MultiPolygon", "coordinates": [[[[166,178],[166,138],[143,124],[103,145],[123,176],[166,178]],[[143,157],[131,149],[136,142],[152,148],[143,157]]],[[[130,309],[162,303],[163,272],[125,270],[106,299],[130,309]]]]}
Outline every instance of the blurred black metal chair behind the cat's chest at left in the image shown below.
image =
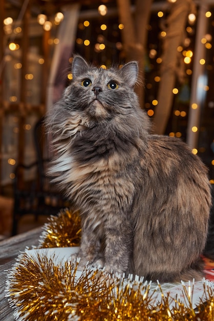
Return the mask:
{"type": "Polygon", "coordinates": [[[51,177],[46,175],[49,159],[44,159],[43,150],[45,135],[43,128],[44,118],[36,123],[34,128],[34,145],[36,162],[25,165],[18,164],[14,178],[14,209],[12,222],[12,235],[17,234],[19,219],[25,214],[34,214],[35,220],[39,215],[56,215],[60,209],[69,207],[71,204],[58,192],[51,183],[51,177]],[[34,179],[29,179],[28,173],[33,174],[34,179]],[[20,187],[19,177],[26,177],[20,187]]]}

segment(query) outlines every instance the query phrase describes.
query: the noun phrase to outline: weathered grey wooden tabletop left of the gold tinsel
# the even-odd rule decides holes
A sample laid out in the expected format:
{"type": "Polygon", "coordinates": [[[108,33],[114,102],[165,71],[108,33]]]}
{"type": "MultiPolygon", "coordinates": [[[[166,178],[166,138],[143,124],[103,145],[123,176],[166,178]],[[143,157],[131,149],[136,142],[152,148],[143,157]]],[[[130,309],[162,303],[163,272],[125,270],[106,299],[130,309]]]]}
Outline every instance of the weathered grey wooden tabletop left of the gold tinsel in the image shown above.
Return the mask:
{"type": "Polygon", "coordinates": [[[27,246],[38,245],[41,227],[22,233],[0,242],[0,320],[14,321],[13,311],[5,297],[7,271],[15,263],[19,251],[24,251],[27,246]]]}

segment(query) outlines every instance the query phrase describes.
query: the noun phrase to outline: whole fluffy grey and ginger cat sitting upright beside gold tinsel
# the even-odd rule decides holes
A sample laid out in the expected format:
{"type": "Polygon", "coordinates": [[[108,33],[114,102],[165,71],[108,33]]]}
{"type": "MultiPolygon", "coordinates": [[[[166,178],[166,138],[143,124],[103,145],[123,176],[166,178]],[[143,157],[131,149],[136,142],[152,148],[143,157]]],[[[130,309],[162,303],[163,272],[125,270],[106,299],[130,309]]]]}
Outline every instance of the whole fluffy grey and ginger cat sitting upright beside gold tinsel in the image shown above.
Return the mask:
{"type": "Polygon", "coordinates": [[[134,85],[138,64],[104,70],[75,56],[47,115],[55,182],[80,209],[78,256],[160,282],[201,279],[211,203],[207,171],[178,138],[153,135],[134,85]]]}

